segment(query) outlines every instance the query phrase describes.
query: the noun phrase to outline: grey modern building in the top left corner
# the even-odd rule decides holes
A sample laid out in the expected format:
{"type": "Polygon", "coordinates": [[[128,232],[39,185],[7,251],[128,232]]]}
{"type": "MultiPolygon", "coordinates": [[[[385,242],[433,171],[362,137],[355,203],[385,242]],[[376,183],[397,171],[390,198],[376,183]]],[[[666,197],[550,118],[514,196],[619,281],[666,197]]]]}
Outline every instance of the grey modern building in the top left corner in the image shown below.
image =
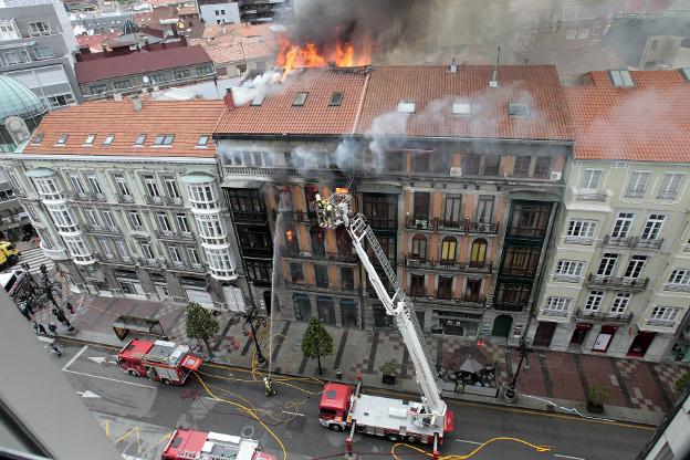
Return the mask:
{"type": "Polygon", "coordinates": [[[0,73],[30,87],[51,109],[81,102],[76,51],[62,2],[0,1],[0,73]]]}

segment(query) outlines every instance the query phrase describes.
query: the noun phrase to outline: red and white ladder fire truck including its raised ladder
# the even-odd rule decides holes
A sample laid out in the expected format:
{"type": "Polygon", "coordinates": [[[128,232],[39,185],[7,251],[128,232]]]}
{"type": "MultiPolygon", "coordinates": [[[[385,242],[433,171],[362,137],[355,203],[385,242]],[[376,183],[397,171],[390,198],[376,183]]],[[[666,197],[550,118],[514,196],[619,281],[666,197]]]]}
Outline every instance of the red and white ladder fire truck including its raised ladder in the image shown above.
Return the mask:
{"type": "Polygon", "coordinates": [[[416,379],[421,391],[421,402],[404,401],[378,396],[365,395],[362,381],[354,389],[349,385],[327,384],[321,399],[318,421],[322,426],[335,431],[349,428],[348,449],[352,437],[356,432],[386,437],[393,441],[433,443],[433,452],[438,454],[438,445],[443,433],[452,431],[453,416],[441,399],[441,390],[437,374],[432,370],[429,351],[424,341],[412,302],[398,283],[388,257],[381,249],[372,228],[362,213],[351,211],[352,197],[347,194],[333,194],[327,199],[316,197],[315,209],[318,224],[335,229],[344,226],[352,243],[367,272],[369,283],[386,309],[393,316],[402,335],[410,358],[415,365],[416,379]],[[365,249],[365,239],[369,244],[378,264],[388,279],[393,295],[388,294],[378,272],[372,264],[365,249]]]}

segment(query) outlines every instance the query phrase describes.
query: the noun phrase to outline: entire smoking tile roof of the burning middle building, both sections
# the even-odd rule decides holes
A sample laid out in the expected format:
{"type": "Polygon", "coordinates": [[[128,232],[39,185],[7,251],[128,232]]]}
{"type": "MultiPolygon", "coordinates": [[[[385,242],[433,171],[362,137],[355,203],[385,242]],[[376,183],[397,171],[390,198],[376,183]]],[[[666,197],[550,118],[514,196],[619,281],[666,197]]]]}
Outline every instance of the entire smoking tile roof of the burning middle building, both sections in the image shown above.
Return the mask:
{"type": "Polygon", "coordinates": [[[503,66],[498,88],[489,87],[491,71],[488,65],[459,66],[457,73],[421,65],[377,66],[369,73],[306,69],[271,86],[262,106],[227,111],[219,132],[573,139],[554,66],[503,66]],[[328,106],[336,91],[345,93],[343,105],[328,106]],[[302,107],[292,106],[297,92],[310,93],[302,107]],[[470,102],[470,116],[451,115],[457,98],[470,102]],[[401,101],[415,102],[415,114],[397,113],[401,101]],[[527,103],[530,114],[509,116],[510,102],[527,103]]]}

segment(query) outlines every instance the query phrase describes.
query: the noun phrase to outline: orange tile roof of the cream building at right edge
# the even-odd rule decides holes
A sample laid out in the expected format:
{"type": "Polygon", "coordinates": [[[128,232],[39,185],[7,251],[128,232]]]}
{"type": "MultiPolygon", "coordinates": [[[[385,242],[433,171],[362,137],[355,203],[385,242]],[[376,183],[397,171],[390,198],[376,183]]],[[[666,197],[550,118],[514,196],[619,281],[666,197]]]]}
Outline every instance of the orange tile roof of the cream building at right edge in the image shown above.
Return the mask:
{"type": "Polygon", "coordinates": [[[634,87],[614,87],[607,72],[566,86],[578,159],[690,161],[690,83],[680,71],[630,72],[634,87]]]}

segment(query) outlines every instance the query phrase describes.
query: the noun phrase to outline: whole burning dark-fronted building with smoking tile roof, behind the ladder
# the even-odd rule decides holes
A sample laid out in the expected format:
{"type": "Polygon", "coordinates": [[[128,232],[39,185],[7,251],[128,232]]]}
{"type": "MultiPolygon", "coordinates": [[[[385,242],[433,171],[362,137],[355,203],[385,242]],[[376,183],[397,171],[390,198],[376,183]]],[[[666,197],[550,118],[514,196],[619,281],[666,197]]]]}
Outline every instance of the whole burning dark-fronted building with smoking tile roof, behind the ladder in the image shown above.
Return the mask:
{"type": "Polygon", "coordinates": [[[347,190],[425,331],[519,337],[572,139],[553,67],[501,72],[307,69],[230,107],[215,137],[254,296],[273,270],[284,317],[393,326],[347,233],[316,224],[315,196],[347,190]]]}

